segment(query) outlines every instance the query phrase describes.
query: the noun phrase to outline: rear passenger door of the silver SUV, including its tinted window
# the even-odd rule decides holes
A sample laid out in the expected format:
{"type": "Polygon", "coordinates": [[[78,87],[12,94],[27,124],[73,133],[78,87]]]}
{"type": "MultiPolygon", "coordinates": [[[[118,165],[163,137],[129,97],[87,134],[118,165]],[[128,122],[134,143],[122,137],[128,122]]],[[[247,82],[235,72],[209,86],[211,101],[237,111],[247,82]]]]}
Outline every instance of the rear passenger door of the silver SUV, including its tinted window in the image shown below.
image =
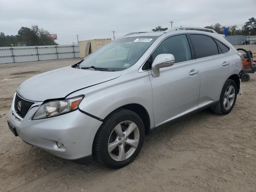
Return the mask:
{"type": "Polygon", "coordinates": [[[231,65],[212,37],[204,34],[189,34],[189,37],[200,70],[200,108],[219,100],[231,65]]]}

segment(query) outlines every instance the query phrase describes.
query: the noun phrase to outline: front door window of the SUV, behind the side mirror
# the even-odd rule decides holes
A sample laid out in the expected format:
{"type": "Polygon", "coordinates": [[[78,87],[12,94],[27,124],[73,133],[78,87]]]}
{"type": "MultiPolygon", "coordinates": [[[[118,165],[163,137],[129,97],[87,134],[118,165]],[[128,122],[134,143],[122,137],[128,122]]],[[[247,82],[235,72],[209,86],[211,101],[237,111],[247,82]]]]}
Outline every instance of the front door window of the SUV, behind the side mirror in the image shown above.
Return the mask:
{"type": "Polygon", "coordinates": [[[173,54],[175,63],[191,60],[191,52],[186,35],[176,35],[164,40],[152,53],[152,62],[159,54],[173,54]]]}

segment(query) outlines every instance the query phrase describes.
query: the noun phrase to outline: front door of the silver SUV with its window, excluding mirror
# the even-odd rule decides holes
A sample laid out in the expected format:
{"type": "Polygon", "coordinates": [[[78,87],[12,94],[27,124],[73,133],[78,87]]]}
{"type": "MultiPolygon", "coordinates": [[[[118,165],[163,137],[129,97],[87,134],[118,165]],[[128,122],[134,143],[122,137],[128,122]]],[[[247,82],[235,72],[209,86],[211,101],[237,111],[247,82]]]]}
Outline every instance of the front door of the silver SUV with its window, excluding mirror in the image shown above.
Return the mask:
{"type": "Polygon", "coordinates": [[[186,34],[166,38],[152,53],[152,62],[163,53],[173,54],[175,63],[160,68],[159,77],[150,74],[156,126],[197,110],[200,91],[199,68],[186,34]]]}

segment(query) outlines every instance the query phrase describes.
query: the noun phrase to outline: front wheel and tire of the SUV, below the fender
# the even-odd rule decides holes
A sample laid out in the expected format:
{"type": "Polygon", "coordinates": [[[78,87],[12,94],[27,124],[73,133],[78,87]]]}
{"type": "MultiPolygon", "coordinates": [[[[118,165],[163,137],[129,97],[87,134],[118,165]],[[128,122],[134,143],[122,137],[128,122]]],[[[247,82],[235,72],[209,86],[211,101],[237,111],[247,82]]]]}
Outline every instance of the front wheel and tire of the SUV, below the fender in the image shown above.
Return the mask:
{"type": "Polygon", "coordinates": [[[122,168],[139,154],[144,136],[144,124],[140,116],[130,110],[118,109],[108,115],[98,129],[93,143],[93,156],[106,167],[122,168]]]}

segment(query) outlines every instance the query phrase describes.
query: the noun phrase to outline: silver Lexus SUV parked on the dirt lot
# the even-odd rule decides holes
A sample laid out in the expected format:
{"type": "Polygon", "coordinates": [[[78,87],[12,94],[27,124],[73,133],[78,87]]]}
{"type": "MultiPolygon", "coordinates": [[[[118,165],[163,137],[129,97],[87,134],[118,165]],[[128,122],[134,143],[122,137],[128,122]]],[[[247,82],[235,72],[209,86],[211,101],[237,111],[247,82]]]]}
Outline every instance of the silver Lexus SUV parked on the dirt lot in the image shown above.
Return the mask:
{"type": "Polygon", "coordinates": [[[135,32],[23,82],[8,125],[61,158],[84,163],[94,156],[121,168],[138,155],[145,134],[162,125],[209,107],[228,114],[241,70],[237,50],[214,30],[135,32]]]}

